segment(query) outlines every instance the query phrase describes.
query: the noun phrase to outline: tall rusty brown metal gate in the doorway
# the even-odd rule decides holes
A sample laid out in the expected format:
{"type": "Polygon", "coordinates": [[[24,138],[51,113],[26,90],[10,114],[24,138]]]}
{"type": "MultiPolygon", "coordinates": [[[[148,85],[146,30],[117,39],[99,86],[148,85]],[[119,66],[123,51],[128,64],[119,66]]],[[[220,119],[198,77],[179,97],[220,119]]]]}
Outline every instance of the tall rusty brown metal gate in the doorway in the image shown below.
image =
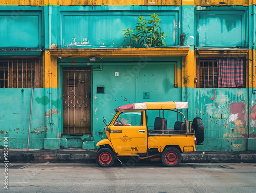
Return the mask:
{"type": "Polygon", "coordinates": [[[63,67],[63,134],[91,134],[90,67],[63,67]]]}

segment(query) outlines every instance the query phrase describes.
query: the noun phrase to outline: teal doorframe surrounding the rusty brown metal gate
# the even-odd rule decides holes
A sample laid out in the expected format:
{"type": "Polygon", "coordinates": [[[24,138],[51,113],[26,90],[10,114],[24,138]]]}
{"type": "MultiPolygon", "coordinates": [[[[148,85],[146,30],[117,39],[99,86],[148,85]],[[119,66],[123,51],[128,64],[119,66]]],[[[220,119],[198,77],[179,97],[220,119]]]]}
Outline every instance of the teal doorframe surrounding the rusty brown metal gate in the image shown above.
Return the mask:
{"type": "Polygon", "coordinates": [[[74,137],[82,137],[82,136],[86,136],[86,137],[93,137],[93,126],[92,126],[92,122],[93,122],[93,117],[92,117],[92,86],[93,86],[93,73],[92,73],[92,69],[93,66],[92,65],[87,65],[87,62],[82,62],[79,63],[78,65],[72,65],[69,62],[65,62],[65,63],[60,63],[57,62],[57,67],[58,67],[58,88],[59,88],[59,92],[58,92],[58,98],[60,99],[58,102],[58,105],[60,106],[60,115],[58,117],[59,119],[59,132],[61,132],[61,135],[63,135],[63,67],[91,67],[91,134],[77,134],[79,136],[76,135],[70,135],[70,134],[64,134],[65,136],[74,136],[74,137]]]}

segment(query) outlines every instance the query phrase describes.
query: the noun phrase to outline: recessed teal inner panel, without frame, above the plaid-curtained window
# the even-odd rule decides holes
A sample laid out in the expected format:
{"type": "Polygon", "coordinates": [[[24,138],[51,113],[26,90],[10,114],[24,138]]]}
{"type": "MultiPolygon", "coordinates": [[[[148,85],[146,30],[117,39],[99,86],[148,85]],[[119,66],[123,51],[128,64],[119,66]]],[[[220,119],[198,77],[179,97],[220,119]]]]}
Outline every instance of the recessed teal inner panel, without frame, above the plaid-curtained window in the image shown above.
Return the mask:
{"type": "Polygon", "coordinates": [[[198,11],[197,23],[197,46],[245,47],[245,11],[198,11]]]}

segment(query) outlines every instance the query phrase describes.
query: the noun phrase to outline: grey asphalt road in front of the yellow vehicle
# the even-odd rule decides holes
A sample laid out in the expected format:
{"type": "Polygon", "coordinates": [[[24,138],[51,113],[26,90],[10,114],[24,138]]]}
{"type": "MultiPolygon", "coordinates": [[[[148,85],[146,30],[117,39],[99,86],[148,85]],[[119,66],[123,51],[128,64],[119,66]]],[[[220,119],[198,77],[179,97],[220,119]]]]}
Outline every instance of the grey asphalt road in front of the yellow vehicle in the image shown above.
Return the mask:
{"type": "MultiPolygon", "coordinates": [[[[194,165],[203,168],[188,164],[174,168],[162,164],[9,166],[8,189],[1,183],[0,192],[256,192],[256,164],[194,165]],[[215,168],[220,166],[225,168],[215,168]]],[[[1,169],[2,182],[4,176],[1,169]]]]}

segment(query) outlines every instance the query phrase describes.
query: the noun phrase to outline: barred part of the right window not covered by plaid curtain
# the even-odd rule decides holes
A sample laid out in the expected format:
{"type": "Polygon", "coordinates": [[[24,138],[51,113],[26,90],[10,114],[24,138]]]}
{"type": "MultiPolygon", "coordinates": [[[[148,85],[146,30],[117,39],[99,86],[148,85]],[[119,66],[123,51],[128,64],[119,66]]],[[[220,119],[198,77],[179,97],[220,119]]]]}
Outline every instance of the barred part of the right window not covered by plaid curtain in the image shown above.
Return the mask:
{"type": "MultiPolygon", "coordinates": [[[[240,58],[241,59],[241,58],[240,58]]],[[[218,85],[218,78],[220,74],[218,73],[218,59],[207,59],[199,58],[197,59],[197,88],[220,88],[218,85]]],[[[245,63],[245,62],[244,62],[245,63]]],[[[244,66],[244,77],[245,77],[245,66],[244,66]]],[[[244,85],[245,87],[245,79],[244,85]]]]}

